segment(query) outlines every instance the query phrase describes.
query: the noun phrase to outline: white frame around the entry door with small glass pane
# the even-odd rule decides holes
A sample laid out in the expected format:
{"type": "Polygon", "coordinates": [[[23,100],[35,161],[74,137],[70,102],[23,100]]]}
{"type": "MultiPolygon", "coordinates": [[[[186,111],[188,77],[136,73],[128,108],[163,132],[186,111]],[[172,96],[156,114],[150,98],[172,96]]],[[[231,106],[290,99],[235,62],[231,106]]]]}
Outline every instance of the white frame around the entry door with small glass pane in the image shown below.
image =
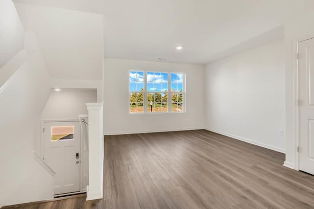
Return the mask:
{"type": "MultiPolygon", "coordinates": [[[[41,154],[43,156],[43,159],[45,160],[45,123],[51,123],[51,122],[80,122],[79,119],[45,119],[41,121],[41,140],[40,140],[40,149],[41,154]]],[[[72,193],[66,193],[66,194],[59,194],[59,195],[53,195],[53,197],[58,196],[64,196],[64,195],[70,195],[70,194],[79,194],[86,192],[86,188],[83,188],[83,135],[81,127],[79,126],[79,154],[80,154],[80,166],[79,166],[79,191],[78,192],[72,192],[72,193]]]]}

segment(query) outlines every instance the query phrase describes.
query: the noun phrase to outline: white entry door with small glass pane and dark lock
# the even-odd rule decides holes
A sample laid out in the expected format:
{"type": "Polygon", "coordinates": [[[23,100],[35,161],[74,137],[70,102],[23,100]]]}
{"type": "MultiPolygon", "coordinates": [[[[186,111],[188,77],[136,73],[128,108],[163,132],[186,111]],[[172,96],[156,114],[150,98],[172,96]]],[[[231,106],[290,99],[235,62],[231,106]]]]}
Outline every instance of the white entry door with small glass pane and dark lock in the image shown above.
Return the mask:
{"type": "Polygon", "coordinates": [[[45,161],[56,173],[54,195],[80,190],[80,124],[45,122],[45,161]]]}

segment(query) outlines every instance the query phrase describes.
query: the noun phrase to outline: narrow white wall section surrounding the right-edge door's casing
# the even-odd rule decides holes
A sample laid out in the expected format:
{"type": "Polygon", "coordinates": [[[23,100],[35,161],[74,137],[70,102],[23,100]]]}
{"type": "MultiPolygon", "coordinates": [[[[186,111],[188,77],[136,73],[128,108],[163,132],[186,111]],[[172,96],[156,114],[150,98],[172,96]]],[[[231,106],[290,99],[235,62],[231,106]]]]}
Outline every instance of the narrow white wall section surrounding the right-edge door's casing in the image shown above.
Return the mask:
{"type": "Polygon", "coordinates": [[[296,46],[298,41],[314,38],[314,11],[306,12],[285,25],[286,46],[286,161],[285,165],[298,170],[296,142],[296,46]]]}

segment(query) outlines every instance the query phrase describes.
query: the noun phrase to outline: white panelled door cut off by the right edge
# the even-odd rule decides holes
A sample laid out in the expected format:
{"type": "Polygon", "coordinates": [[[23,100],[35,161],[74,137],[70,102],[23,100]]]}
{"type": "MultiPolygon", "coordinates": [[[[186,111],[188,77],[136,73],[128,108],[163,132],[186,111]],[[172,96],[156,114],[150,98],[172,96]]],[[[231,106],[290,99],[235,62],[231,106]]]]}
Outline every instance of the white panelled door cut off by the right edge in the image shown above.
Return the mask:
{"type": "Polygon", "coordinates": [[[314,174],[314,38],[299,42],[299,169],[314,174]]]}

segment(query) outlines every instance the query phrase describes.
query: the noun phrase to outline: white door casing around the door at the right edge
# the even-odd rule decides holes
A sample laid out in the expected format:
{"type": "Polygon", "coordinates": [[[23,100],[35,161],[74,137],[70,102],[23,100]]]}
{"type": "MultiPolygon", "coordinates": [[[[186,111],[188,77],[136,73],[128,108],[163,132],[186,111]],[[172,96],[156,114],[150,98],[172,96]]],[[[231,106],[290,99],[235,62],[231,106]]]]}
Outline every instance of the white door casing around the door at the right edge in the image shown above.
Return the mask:
{"type": "MultiPolygon", "coordinates": [[[[292,168],[294,170],[299,169],[299,43],[307,41],[314,38],[313,35],[307,35],[300,39],[293,41],[293,155],[294,155],[294,165],[286,164],[285,166],[292,168]]],[[[286,139],[287,140],[287,139],[286,139]]]]}

